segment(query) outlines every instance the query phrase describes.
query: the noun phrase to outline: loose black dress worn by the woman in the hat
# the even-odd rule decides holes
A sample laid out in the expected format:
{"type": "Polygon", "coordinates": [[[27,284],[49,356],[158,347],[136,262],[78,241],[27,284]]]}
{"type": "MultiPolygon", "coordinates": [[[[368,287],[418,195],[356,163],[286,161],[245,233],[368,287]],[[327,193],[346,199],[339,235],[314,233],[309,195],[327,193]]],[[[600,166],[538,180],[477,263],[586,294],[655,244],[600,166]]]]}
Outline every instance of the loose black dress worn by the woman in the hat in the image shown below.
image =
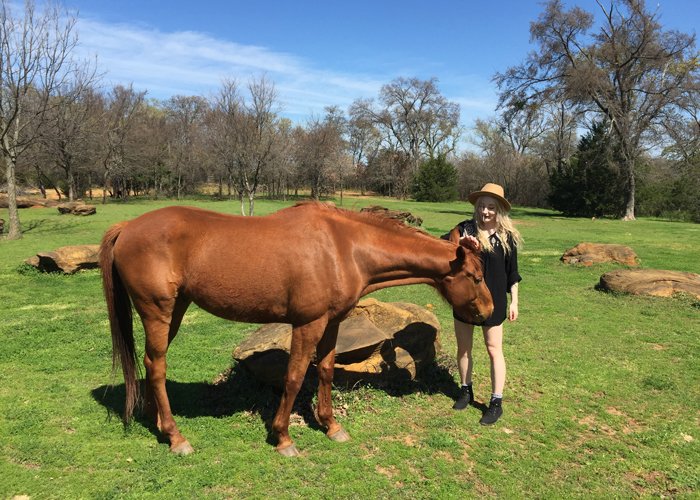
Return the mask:
{"type": "MultiPolygon", "coordinates": [[[[476,222],[474,219],[465,220],[457,224],[460,236],[475,236],[477,234],[476,222]]],[[[449,233],[445,235],[449,238],[449,233]]],[[[443,236],[443,238],[445,238],[443,236]]],[[[445,239],[448,239],[445,238],[445,239]]],[[[503,244],[495,234],[489,236],[493,250],[486,252],[482,250],[481,261],[484,266],[484,280],[491,292],[493,299],[493,314],[483,323],[472,323],[460,318],[453,311],[453,316],[463,323],[475,324],[479,326],[498,326],[506,320],[507,293],[515,283],[519,283],[522,277],[518,273],[518,247],[509,236],[507,244],[510,245],[510,252],[505,253],[503,244]]]]}

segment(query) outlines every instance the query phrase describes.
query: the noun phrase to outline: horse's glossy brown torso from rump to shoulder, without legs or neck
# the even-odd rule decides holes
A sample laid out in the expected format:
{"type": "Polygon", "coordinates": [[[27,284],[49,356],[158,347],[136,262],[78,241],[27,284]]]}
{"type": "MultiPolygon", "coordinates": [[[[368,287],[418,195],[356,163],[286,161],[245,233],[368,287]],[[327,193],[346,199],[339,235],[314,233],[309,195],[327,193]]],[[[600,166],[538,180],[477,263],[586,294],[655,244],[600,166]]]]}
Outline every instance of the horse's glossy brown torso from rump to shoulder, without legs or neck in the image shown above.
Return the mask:
{"type": "Polygon", "coordinates": [[[167,207],[124,227],[115,263],[132,296],[182,295],[250,322],[302,321],[360,287],[343,274],[349,262],[332,214],[314,206],[262,217],[167,207]]]}

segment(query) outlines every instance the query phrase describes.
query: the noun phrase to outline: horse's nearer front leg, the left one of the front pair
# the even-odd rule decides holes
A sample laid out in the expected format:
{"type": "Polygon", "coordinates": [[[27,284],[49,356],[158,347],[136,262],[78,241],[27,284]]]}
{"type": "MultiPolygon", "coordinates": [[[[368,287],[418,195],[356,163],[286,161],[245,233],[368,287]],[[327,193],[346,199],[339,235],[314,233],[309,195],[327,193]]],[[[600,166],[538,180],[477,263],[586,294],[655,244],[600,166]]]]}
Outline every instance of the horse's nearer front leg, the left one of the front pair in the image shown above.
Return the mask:
{"type": "Polygon", "coordinates": [[[292,329],[292,345],[289,350],[287,374],[284,377],[284,392],[272,421],[272,432],[277,436],[277,451],[282,455],[296,456],[299,454],[289,436],[289,416],[292,413],[292,406],[301,384],[304,382],[306,370],[311,362],[311,355],[321,339],[327,323],[328,320],[324,316],[306,325],[294,326],[292,329]]]}

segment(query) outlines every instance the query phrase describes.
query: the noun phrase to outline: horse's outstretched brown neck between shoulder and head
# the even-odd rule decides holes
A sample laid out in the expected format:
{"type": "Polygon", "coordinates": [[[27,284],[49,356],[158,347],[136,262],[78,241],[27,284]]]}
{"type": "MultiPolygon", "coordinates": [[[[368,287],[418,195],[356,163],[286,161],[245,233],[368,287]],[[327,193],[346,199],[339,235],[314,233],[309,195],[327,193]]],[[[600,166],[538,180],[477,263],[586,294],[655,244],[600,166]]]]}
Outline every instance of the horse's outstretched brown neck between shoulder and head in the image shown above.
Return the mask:
{"type": "Polygon", "coordinates": [[[444,241],[381,228],[367,230],[356,251],[356,261],[366,274],[366,293],[398,285],[433,284],[449,273],[452,260],[444,241]]]}

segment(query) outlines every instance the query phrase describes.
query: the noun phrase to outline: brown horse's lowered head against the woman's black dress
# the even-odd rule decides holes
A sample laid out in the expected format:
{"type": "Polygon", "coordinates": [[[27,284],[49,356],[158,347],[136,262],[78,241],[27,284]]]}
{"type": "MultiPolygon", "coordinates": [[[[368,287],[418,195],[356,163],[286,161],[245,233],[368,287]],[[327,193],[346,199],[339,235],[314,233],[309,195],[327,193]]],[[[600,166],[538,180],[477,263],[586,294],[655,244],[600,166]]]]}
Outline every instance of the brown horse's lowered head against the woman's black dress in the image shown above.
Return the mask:
{"type": "Polygon", "coordinates": [[[450,273],[439,282],[438,288],[458,316],[481,323],[491,316],[493,301],[484,281],[479,252],[470,241],[460,241],[456,229],[450,233],[450,241],[457,244],[455,259],[450,262],[450,273]]]}

